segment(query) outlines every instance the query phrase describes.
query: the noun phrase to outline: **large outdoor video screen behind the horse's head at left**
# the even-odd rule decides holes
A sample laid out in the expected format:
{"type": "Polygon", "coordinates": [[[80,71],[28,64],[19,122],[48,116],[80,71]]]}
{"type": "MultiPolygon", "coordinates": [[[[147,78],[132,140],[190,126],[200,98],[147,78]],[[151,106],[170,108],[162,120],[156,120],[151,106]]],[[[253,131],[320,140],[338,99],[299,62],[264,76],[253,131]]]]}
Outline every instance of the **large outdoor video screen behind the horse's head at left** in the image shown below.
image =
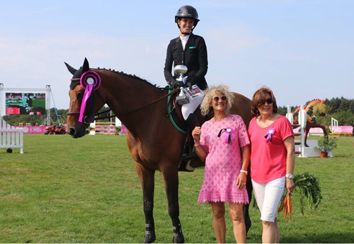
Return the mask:
{"type": "Polygon", "coordinates": [[[45,115],[45,93],[6,93],[6,115],[45,115]]]}

